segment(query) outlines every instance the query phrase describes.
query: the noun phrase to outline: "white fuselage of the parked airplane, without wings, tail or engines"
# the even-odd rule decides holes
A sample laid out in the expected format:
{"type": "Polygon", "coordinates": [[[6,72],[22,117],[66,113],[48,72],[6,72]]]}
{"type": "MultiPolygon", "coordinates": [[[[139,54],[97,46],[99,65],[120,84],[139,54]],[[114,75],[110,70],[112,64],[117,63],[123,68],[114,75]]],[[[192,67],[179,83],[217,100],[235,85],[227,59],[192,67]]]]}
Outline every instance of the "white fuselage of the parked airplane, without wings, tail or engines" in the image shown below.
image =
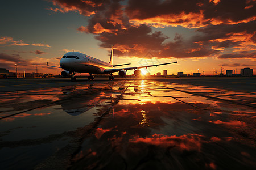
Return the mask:
{"type": "Polygon", "coordinates": [[[60,67],[70,72],[106,74],[104,70],[113,69],[110,63],[79,52],[68,52],[64,56],[60,59],[60,67]],[[77,56],[79,59],[74,57],[67,58],[67,56],[77,56]]]}

